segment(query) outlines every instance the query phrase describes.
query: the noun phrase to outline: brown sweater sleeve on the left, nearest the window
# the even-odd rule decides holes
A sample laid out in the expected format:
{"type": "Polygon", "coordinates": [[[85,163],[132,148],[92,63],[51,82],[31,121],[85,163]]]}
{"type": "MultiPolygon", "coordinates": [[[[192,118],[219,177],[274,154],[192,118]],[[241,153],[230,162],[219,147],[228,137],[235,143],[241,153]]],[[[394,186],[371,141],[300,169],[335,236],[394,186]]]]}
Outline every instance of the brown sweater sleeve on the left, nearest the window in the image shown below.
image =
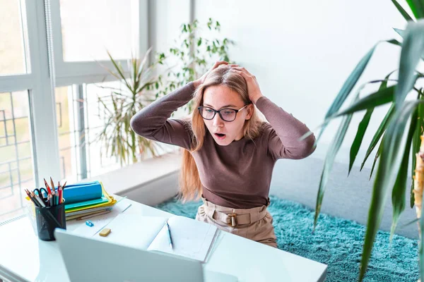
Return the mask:
{"type": "Polygon", "coordinates": [[[188,121],[172,119],[170,116],[192,99],[194,90],[193,82],[189,82],[141,109],[131,118],[131,128],[148,139],[190,149],[188,121]]]}

